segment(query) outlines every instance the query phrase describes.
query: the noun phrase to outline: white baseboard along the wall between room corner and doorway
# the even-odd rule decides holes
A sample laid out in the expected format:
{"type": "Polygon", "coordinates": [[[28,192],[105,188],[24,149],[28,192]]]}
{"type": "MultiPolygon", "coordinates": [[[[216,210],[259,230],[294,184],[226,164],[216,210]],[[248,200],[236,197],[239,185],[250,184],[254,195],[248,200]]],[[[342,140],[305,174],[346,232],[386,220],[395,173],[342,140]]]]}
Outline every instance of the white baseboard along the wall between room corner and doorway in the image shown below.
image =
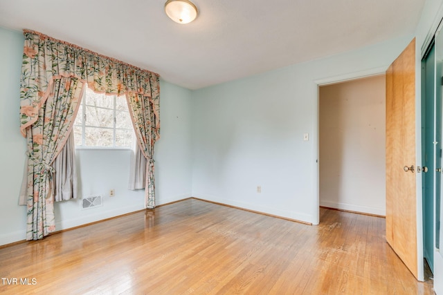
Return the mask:
{"type": "Polygon", "coordinates": [[[228,200],[224,198],[218,198],[216,196],[209,196],[209,195],[202,195],[199,193],[192,194],[193,197],[199,198],[201,200],[207,200],[211,202],[217,202],[220,204],[226,204],[228,206],[238,207],[246,210],[252,210],[257,211],[265,214],[271,214],[273,216],[279,216],[282,218],[289,218],[292,220],[298,220],[301,222],[307,222],[307,223],[314,223],[313,222],[313,216],[310,216],[309,214],[296,212],[296,211],[289,211],[289,210],[281,210],[281,209],[275,209],[272,207],[263,207],[256,204],[246,203],[246,202],[238,202],[236,200],[228,200]]]}

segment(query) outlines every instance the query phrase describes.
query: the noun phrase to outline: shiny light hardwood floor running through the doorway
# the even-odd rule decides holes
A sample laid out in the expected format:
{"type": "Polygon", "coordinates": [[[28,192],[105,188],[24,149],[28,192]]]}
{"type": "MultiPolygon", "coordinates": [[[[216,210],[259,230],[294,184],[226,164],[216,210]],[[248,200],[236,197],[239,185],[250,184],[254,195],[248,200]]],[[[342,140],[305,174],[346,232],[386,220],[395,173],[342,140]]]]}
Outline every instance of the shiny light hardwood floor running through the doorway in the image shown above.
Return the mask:
{"type": "Polygon", "coordinates": [[[0,293],[433,294],[386,243],[383,218],[322,208],[320,221],[184,200],[3,247],[0,293]]]}

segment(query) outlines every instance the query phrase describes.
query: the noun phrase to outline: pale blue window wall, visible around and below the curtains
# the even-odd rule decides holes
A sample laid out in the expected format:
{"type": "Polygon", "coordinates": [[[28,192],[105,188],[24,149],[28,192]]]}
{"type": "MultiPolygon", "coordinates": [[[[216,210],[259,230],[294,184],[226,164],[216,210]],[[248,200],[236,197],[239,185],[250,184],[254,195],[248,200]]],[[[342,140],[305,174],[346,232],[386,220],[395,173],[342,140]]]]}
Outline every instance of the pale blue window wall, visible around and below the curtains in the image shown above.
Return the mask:
{"type": "MultiPolygon", "coordinates": [[[[0,245],[26,237],[25,207],[18,206],[26,144],[19,133],[19,79],[24,38],[0,27],[0,245]]],[[[161,138],[156,143],[156,203],[191,196],[191,91],[161,81],[161,138]]],[[[102,195],[103,206],[80,209],[80,200],[55,204],[56,229],[143,209],[143,191],[129,191],[131,151],[78,150],[80,197],[102,195]],[[115,189],[116,196],[109,197],[115,189]]]]}

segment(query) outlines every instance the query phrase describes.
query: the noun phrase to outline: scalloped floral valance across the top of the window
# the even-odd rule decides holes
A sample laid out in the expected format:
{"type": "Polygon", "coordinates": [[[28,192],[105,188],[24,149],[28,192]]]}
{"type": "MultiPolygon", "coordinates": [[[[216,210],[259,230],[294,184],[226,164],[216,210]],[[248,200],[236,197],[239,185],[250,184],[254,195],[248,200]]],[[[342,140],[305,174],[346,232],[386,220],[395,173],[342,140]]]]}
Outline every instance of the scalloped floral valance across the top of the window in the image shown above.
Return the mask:
{"type": "Polygon", "coordinates": [[[39,32],[24,30],[25,44],[20,91],[21,134],[38,117],[53,80],[76,77],[97,93],[137,94],[152,102],[154,124],[159,138],[159,75],[122,61],[53,39],[39,32]]]}

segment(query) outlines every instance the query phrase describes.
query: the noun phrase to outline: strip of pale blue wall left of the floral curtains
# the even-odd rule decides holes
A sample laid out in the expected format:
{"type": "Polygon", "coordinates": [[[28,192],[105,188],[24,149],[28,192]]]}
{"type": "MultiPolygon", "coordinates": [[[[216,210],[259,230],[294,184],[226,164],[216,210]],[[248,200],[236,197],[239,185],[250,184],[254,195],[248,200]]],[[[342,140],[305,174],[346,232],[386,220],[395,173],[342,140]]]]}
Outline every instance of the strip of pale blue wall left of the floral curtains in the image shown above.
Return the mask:
{"type": "Polygon", "coordinates": [[[18,205],[26,151],[19,131],[23,44],[20,33],[0,28],[0,245],[26,234],[26,207],[18,205]]]}

